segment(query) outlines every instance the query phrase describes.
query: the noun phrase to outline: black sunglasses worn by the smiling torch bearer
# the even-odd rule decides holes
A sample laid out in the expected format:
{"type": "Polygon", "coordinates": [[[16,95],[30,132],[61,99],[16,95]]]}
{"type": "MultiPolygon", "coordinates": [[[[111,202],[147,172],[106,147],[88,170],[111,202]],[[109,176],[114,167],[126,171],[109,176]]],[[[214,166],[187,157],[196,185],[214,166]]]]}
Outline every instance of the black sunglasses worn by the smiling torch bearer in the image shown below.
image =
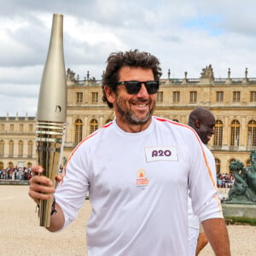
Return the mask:
{"type": "Polygon", "coordinates": [[[124,81],[119,82],[119,84],[125,84],[125,90],[129,94],[137,94],[141,88],[142,84],[145,84],[148,94],[157,93],[159,90],[159,81],[146,81],[146,82],[139,82],[139,81],[124,81]]]}

